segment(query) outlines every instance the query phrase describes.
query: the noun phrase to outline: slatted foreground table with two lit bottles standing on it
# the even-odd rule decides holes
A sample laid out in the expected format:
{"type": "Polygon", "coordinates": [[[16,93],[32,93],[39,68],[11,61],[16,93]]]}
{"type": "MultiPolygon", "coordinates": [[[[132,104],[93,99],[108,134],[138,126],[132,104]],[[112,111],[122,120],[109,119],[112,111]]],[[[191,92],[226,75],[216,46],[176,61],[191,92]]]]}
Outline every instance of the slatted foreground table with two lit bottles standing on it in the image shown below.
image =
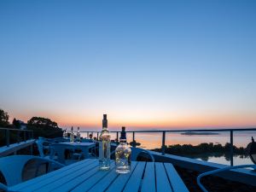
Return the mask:
{"type": "Polygon", "coordinates": [[[111,163],[109,171],[99,171],[98,160],[87,159],[55,172],[10,187],[13,191],[189,191],[170,163],[131,163],[131,172],[118,174],[111,163]]]}

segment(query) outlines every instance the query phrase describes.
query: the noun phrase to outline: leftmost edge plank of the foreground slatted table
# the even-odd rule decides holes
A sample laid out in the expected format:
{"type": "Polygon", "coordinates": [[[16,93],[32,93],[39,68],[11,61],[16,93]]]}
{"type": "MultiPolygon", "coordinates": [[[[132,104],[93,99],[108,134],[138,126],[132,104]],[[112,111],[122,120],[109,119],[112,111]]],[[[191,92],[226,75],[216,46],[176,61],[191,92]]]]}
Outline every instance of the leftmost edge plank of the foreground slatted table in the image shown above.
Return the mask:
{"type": "Polygon", "coordinates": [[[57,171],[49,172],[49,173],[47,173],[43,176],[35,177],[32,180],[28,180],[24,183],[17,184],[14,187],[11,187],[10,189],[13,190],[13,191],[18,191],[18,190],[21,190],[21,189],[28,189],[28,188],[32,187],[33,185],[35,185],[35,184],[38,184],[40,182],[44,182],[44,180],[48,180],[49,178],[52,178],[52,177],[63,176],[63,175],[65,175],[66,172],[70,172],[70,170],[72,170],[73,168],[75,168],[75,169],[77,167],[79,168],[81,166],[84,166],[84,163],[92,163],[93,161],[96,161],[96,160],[88,159],[88,160],[79,161],[77,163],[73,163],[72,165],[62,167],[61,169],[59,169],[57,171]]]}

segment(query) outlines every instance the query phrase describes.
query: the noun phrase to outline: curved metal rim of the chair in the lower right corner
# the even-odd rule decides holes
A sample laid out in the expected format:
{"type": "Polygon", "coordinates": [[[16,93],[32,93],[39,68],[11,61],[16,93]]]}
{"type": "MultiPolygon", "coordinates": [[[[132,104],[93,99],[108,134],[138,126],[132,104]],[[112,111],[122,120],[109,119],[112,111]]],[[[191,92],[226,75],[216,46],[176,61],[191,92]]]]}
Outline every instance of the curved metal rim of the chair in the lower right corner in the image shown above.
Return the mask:
{"type": "Polygon", "coordinates": [[[228,171],[228,170],[232,170],[232,169],[239,169],[239,168],[246,168],[246,167],[251,167],[254,170],[256,170],[256,165],[228,166],[228,167],[224,167],[224,168],[221,168],[221,169],[213,170],[213,171],[210,171],[210,172],[201,173],[196,178],[196,182],[199,185],[199,187],[202,189],[202,191],[208,192],[207,189],[201,184],[201,177],[205,177],[207,175],[212,175],[212,174],[215,174],[215,173],[218,173],[218,172],[224,172],[224,171],[228,171]]]}

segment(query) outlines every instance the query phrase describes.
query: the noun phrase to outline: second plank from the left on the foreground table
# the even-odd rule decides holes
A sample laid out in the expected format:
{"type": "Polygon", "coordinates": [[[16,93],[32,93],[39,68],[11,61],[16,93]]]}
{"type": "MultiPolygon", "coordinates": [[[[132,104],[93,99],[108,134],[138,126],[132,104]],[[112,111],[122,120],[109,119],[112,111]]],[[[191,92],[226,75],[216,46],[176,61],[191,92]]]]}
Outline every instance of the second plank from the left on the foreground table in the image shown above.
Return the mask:
{"type": "Polygon", "coordinates": [[[61,186],[69,181],[73,181],[75,178],[80,177],[82,175],[90,175],[88,172],[90,172],[90,170],[96,168],[98,166],[98,162],[95,161],[94,163],[88,165],[88,164],[84,164],[83,167],[81,167],[79,170],[77,171],[71,171],[68,174],[65,175],[65,177],[61,177],[61,179],[57,179],[54,180],[52,183],[48,183],[45,184],[44,187],[38,188],[36,191],[38,192],[45,192],[45,191],[52,191],[54,189],[59,189],[61,188],[61,186]]]}

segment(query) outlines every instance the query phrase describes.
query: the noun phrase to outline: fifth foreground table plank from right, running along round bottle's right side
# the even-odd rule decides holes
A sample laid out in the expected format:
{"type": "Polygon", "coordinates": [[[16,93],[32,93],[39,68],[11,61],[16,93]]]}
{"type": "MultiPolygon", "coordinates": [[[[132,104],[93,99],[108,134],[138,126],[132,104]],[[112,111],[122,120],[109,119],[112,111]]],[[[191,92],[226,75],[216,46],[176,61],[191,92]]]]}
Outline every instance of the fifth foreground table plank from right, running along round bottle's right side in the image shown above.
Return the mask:
{"type": "Polygon", "coordinates": [[[131,177],[132,172],[134,172],[137,166],[137,161],[131,162],[131,172],[127,174],[119,174],[119,176],[113,181],[113,183],[108,187],[106,192],[119,192],[125,187],[125,184],[131,177]]]}

